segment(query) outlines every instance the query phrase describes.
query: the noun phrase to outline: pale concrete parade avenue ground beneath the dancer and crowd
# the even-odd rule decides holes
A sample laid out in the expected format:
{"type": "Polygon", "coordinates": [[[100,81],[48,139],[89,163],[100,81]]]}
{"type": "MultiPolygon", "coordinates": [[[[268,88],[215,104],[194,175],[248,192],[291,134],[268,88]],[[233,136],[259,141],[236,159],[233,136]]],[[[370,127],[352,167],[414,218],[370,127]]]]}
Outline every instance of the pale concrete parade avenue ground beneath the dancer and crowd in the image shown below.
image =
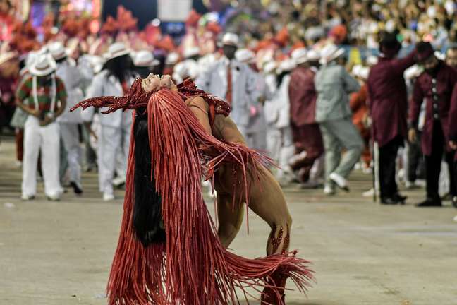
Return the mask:
{"type": "MultiPolygon", "coordinates": [[[[59,202],[47,201],[39,183],[35,201],[20,201],[13,151],[13,139],[3,138],[0,304],[106,304],[123,191],[104,203],[92,172],[84,174],[82,197],[68,191],[59,202]]],[[[381,206],[361,196],[371,181],[371,175],[353,172],[351,193],[331,198],[321,189],[284,189],[293,217],[291,249],[312,261],[316,277],[307,296],[287,292],[286,304],[457,304],[457,210],[449,202],[444,208],[415,208],[422,190],[405,190],[405,206],[381,206]]],[[[212,202],[207,198],[214,211],[212,202]]],[[[231,249],[264,256],[269,229],[254,213],[249,216],[250,234],[244,223],[231,249]]]]}

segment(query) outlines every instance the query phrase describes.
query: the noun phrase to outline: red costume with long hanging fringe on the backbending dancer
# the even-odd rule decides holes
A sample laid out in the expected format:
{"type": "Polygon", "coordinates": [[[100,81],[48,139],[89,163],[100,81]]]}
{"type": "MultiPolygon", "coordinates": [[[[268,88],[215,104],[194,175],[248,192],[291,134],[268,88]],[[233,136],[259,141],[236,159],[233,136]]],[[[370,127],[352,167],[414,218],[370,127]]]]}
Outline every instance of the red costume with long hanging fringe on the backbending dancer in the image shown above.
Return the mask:
{"type": "MultiPolygon", "coordinates": [[[[204,97],[213,117],[211,113],[229,115],[226,102],[197,90],[188,80],[178,88],[179,92],[164,88],[146,93],[138,79],[124,97],[96,97],[75,106],[109,107],[104,113],[146,109],[152,178],[162,196],[166,242],[145,247],[135,238],[132,225],[132,136],[121,232],[107,287],[109,304],[239,304],[236,288],[243,299],[250,295],[248,287],[259,292],[264,287],[274,289],[274,273],[291,278],[305,292],[312,271],[308,261],[295,256],[296,251],[248,259],[221,246],[202,197],[202,175],[214,178],[226,162],[239,167],[244,173],[244,181],[239,182],[247,190],[242,199],[248,203],[248,172],[255,173],[256,167],[269,160],[245,145],[224,143],[206,133],[184,100],[204,97]]],[[[274,304],[284,304],[276,294],[274,304]]]]}

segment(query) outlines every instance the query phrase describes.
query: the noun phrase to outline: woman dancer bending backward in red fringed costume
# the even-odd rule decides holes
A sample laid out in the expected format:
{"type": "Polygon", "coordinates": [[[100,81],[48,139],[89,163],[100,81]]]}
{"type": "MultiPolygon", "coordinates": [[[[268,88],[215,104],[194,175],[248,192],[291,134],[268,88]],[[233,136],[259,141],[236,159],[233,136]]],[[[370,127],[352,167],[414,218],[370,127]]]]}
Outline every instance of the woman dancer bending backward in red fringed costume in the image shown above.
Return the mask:
{"type": "Polygon", "coordinates": [[[291,216],[278,184],[244,145],[226,102],[186,80],[135,80],[124,97],[98,97],[77,107],[135,109],[118,248],[109,304],[238,303],[236,288],[262,292],[262,304],[284,304],[288,277],[300,291],[312,278],[307,261],[288,252],[291,216]],[[200,177],[218,193],[219,230],[202,198],[200,177]],[[266,258],[226,251],[243,218],[243,202],[272,233],[266,258]],[[218,238],[219,236],[219,238],[218,238]]]}

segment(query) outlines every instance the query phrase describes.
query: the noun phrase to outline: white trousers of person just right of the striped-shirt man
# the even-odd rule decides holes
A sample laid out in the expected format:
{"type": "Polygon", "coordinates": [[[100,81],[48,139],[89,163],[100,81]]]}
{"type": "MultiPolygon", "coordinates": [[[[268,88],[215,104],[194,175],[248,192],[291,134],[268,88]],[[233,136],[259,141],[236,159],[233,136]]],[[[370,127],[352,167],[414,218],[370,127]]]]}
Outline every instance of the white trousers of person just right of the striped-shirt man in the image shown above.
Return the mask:
{"type": "Polygon", "coordinates": [[[59,123],[63,147],[67,152],[70,181],[81,184],[81,146],[79,143],[78,124],[59,123]]]}

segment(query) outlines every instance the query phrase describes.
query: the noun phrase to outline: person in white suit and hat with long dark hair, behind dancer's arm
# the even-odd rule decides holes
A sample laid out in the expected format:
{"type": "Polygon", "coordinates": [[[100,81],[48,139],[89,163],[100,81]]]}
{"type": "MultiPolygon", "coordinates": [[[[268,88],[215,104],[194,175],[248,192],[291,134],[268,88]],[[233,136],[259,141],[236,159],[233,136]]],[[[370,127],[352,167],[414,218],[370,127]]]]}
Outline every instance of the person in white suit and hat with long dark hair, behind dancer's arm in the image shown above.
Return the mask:
{"type": "MultiPolygon", "coordinates": [[[[111,44],[108,52],[104,54],[106,59],[104,69],[93,78],[91,85],[87,88],[86,98],[102,95],[123,96],[128,92],[130,84],[133,83],[132,63],[129,54],[130,51],[124,44],[119,42],[111,44]]],[[[104,110],[102,109],[102,111],[104,110]]],[[[93,114],[93,108],[83,112],[83,120],[89,130],[93,114]]],[[[131,124],[132,113],[130,111],[113,112],[100,116],[97,155],[99,189],[103,193],[104,201],[114,199],[113,179],[115,172],[118,174],[116,184],[120,184],[121,179],[123,181],[126,179],[131,124]],[[116,166],[116,159],[118,159],[118,166],[116,166]]]]}

